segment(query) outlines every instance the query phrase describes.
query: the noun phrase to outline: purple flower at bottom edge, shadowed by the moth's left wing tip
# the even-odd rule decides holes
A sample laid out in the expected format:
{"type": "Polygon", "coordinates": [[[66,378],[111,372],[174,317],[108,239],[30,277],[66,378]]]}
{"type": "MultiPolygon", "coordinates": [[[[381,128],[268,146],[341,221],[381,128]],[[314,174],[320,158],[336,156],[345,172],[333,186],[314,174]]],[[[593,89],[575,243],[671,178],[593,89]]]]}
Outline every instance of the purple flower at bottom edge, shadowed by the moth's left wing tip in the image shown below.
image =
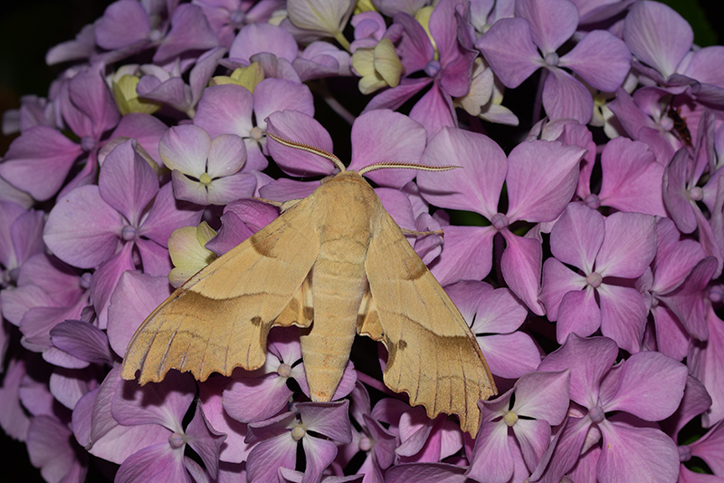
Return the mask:
{"type": "MultiPolygon", "coordinates": [[[[210,427],[200,406],[186,428],[182,420],[194,401],[195,382],[189,374],[169,372],[163,382],[141,387],[120,379],[120,366],[111,370],[98,391],[89,392],[76,411],[89,406],[90,415],[80,415],[76,436],[87,440],[89,451],[120,463],[117,481],[135,481],[140,475],[159,481],[193,481],[188,471],[198,469],[184,456],[186,444],[201,457],[211,478],[218,471],[219,447],[225,436],[210,427]],[[90,423],[81,424],[81,418],[90,423]]],[[[201,470],[203,472],[203,469],[201,470]]]]}

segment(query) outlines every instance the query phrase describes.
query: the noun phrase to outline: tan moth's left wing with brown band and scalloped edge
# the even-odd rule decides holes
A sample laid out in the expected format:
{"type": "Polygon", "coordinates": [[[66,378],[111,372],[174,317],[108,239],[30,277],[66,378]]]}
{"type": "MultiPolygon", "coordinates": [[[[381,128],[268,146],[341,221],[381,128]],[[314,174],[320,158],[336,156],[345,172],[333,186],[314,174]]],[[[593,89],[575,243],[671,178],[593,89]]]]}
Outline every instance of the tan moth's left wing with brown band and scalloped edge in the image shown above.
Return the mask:
{"type": "Polygon", "coordinates": [[[291,305],[303,302],[302,285],[319,253],[313,202],[300,201],[160,304],[134,333],[122,377],[140,370],[141,384],[160,382],[177,369],[204,381],[212,372],[261,367],[277,316],[300,312],[291,305]]]}

